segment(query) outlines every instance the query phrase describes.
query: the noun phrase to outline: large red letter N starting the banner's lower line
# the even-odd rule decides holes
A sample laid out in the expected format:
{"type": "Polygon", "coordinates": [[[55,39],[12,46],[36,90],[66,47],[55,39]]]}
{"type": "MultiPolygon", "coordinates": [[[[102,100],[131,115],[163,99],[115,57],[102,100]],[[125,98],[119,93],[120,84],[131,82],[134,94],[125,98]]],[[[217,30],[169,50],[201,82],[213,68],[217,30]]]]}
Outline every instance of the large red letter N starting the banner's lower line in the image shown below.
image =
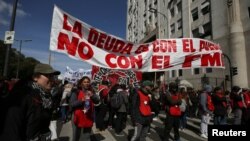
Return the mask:
{"type": "Polygon", "coordinates": [[[68,54],[75,56],[78,42],[79,38],[72,37],[72,41],[70,42],[69,36],[65,33],[60,32],[58,35],[57,48],[59,50],[65,50],[64,47],[66,47],[68,54]]]}

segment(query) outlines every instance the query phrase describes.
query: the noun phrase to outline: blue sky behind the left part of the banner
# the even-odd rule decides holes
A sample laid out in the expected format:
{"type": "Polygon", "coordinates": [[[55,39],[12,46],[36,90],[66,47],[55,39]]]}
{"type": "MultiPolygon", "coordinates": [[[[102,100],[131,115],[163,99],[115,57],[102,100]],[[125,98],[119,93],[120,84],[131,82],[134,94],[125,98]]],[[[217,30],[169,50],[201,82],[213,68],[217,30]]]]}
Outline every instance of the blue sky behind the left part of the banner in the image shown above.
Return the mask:
{"type": "MultiPolygon", "coordinates": [[[[13,3],[0,0],[0,39],[10,30],[13,3]]],[[[49,63],[49,43],[54,5],[75,18],[106,33],[125,39],[127,0],[18,0],[15,20],[15,39],[32,40],[22,43],[22,54],[42,63],[49,63]]],[[[12,48],[19,50],[20,42],[12,48]]],[[[10,56],[11,57],[11,56],[10,56]]],[[[65,72],[66,66],[73,70],[91,69],[91,65],[69,58],[66,54],[52,52],[51,65],[65,72]]]]}

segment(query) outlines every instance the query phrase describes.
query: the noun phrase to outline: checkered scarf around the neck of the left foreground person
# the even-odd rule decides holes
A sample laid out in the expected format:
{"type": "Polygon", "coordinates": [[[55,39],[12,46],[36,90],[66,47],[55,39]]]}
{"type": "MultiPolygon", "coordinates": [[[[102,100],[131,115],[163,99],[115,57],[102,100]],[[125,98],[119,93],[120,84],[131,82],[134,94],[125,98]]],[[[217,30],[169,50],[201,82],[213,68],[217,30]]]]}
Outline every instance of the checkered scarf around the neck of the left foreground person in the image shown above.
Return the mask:
{"type": "Polygon", "coordinates": [[[31,87],[32,87],[33,90],[35,90],[36,92],[38,92],[38,94],[40,95],[40,97],[42,99],[42,107],[44,109],[51,109],[52,108],[52,97],[51,97],[51,94],[45,92],[45,90],[43,88],[41,88],[41,86],[39,86],[35,82],[31,83],[31,87]]]}

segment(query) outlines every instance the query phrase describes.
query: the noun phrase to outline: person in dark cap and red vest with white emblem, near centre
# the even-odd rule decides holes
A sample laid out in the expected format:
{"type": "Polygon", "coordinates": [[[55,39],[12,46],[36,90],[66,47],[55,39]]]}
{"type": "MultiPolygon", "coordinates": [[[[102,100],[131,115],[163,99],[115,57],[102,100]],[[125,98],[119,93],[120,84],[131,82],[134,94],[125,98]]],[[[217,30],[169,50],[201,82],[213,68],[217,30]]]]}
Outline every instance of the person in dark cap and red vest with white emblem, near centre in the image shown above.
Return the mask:
{"type": "Polygon", "coordinates": [[[150,102],[153,87],[154,84],[151,81],[145,80],[132,97],[131,118],[135,122],[135,131],[131,141],[145,140],[147,136],[152,122],[150,102]]]}

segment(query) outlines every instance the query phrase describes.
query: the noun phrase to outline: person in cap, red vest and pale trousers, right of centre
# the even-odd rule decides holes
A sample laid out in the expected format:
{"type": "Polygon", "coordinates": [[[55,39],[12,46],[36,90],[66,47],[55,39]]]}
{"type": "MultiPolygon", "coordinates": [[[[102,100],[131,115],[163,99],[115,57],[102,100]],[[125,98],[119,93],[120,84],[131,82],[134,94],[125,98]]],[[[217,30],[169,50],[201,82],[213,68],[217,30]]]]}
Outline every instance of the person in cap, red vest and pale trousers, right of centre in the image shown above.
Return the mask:
{"type": "Polygon", "coordinates": [[[205,85],[203,92],[200,94],[200,113],[201,113],[201,124],[200,132],[202,138],[208,138],[208,124],[211,120],[214,105],[211,98],[211,92],[213,88],[211,85],[205,85]]]}

